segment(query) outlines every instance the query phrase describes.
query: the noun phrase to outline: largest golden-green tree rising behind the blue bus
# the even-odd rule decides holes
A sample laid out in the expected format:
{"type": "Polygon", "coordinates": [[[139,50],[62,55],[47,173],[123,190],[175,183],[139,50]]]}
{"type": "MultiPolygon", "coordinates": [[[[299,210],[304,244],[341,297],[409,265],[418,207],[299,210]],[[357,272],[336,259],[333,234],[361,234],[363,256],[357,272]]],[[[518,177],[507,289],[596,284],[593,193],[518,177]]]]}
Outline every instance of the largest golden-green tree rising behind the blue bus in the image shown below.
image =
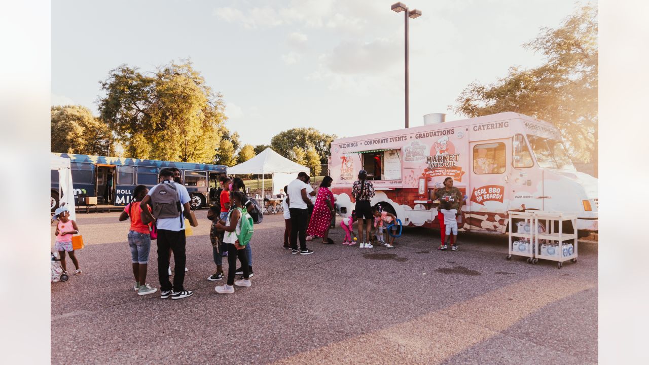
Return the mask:
{"type": "Polygon", "coordinates": [[[191,62],[156,71],[119,66],[100,82],[101,119],[115,132],[125,155],[184,162],[213,162],[225,121],[223,100],[191,62]]]}

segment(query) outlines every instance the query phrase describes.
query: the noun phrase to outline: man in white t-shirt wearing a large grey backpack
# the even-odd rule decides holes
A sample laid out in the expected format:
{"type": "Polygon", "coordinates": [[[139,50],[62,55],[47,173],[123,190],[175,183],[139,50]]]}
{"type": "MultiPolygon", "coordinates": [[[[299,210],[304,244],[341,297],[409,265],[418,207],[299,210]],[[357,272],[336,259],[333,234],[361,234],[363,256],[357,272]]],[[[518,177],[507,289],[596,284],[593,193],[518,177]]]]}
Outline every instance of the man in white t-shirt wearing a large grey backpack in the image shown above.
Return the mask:
{"type": "MultiPolygon", "coordinates": [[[[190,194],[187,192],[187,188],[173,181],[173,171],[163,169],[160,171],[160,177],[162,178],[162,183],[153,186],[149,190],[149,194],[142,199],[140,205],[148,204],[155,211],[155,207],[153,207],[154,201],[151,196],[153,194],[160,194],[164,184],[173,184],[173,186],[167,186],[167,188],[171,188],[167,190],[173,190],[175,188],[178,194],[178,201],[180,201],[180,214],[178,218],[160,218],[156,220],[156,228],[158,229],[158,279],[160,279],[160,297],[165,299],[171,296],[171,299],[182,299],[193,294],[191,290],[185,290],[183,287],[185,281],[185,262],[187,260],[185,255],[184,212],[190,212],[190,194]],[[173,292],[167,273],[167,268],[169,268],[169,249],[173,251],[176,267],[173,277],[173,292]]],[[[142,212],[145,216],[148,216],[148,221],[154,220],[149,209],[143,209],[142,212]]]]}

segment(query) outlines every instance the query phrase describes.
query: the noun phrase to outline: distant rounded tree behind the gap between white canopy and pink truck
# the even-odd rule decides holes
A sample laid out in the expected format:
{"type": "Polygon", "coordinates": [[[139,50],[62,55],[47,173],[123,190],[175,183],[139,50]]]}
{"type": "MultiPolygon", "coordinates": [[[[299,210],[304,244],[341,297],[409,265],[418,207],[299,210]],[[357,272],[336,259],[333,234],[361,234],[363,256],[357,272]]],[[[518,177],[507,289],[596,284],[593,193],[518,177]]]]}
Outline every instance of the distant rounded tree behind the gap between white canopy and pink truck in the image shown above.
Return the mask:
{"type": "Polygon", "coordinates": [[[312,145],[320,158],[320,162],[326,164],[327,157],[330,154],[331,142],[335,138],[334,134],[324,134],[312,127],[293,128],[276,134],[271,140],[271,147],[280,155],[293,160],[291,158],[293,147],[299,147],[302,152],[305,152],[312,145]]]}

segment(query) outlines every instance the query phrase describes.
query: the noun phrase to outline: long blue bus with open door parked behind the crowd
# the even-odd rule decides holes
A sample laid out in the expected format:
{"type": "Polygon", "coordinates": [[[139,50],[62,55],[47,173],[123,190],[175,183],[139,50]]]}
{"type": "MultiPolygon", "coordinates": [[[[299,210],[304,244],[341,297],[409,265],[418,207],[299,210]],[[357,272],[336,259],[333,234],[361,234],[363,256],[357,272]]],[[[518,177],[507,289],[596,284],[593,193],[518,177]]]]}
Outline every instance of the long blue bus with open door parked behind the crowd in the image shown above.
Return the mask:
{"type": "MultiPolygon", "coordinates": [[[[143,160],[140,158],[106,157],[93,155],[69,155],[55,153],[69,158],[72,170],[72,184],[75,197],[82,195],[97,197],[99,205],[127,205],[132,199],[133,189],[138,185],[151,188],[160,181],[160,170],[177,168],[182,183],[191,197],[191,208],[199,209],[215,200],[218,179],[225,174],[227,166],[143,160]]],[[[58,171],[51,170],[50,209],[58,207],[58,171]]]]}

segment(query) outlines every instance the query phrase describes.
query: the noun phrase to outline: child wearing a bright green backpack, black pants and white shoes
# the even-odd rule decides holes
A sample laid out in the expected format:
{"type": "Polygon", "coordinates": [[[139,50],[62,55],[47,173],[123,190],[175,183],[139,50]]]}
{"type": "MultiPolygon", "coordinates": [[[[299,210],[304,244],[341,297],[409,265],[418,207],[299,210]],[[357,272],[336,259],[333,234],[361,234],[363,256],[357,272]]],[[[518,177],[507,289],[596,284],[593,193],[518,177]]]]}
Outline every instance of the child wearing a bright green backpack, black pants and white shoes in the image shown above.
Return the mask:
{"type": "Polygon", "coordinates": [[[234,293],[234,286],[251,286],[248,258],[245,246],[250,244],[252,238],[252,217],[243,208],[245,197],[241,192],[231,192],[230,201],[234,209],[228,213],[226,221],[219,220],[216,228],[225,231],[223,242],[228,247],[228,280],[224,286],[217,286],[214,290],[219,294],[234,293]],[[236,275],[237,258],[241,262],[243,279],[234,281],[236,275]]]}

